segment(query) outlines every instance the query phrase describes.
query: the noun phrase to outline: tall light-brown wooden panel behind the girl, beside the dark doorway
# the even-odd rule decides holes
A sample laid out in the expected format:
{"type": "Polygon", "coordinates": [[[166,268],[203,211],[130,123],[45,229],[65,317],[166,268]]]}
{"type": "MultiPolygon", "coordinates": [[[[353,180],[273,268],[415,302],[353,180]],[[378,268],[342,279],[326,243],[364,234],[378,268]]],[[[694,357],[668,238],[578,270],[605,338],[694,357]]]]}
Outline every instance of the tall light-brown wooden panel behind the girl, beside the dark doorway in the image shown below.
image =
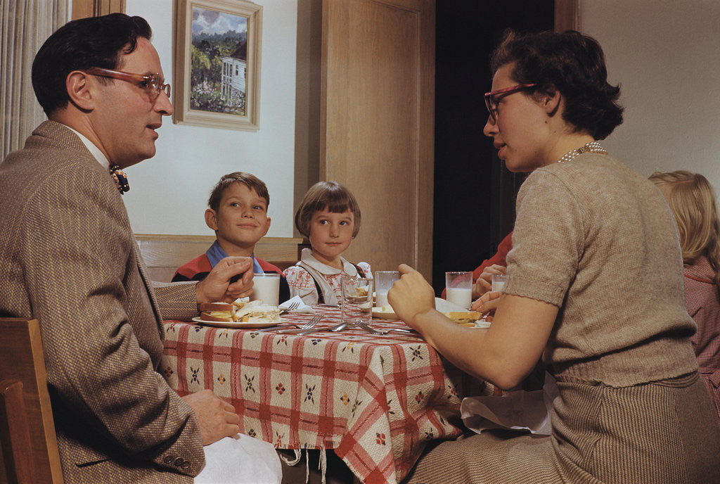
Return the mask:
{"type": "Polygon", "coordinates": [[[434,2],[323,3],[320,179],[351,189],[346,258],[432,266],[434,2]]]}

